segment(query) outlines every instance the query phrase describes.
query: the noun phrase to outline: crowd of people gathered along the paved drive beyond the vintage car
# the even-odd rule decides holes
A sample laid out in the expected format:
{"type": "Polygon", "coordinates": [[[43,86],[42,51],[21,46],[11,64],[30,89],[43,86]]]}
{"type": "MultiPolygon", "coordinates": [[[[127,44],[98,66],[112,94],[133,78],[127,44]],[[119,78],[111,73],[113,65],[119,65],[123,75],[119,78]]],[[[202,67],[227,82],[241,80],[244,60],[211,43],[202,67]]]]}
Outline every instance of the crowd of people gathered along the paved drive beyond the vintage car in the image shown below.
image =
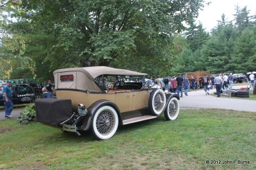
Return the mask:
{"type": "MultiPolygon", "coordinates": [[[[249,80],[251,81],[252,85],[255,83],[255,76],[254,74],[250,74],[249,80]]],[[[193,76],[191,76],[190,80],[186,74],[172,78],[168,78],[164,76],[163,81],[161,80],[160,76],[156,76],[156,80],[153,81],[152,76],[150,76],[149,80],[147,81],[148,84],[156,83],[161,89],[168,90],[169,92],[177,93],[180,97],[183,97],[183,92],[186,96],[188,96],[189,89],[196,90],[198,89],[198,83],[202,84],[205,91],[205,96],[210,95],[209,89],[215,88],[217,97],[221,96],[221,90],[229,89],[231,90],[233,87],[234,77],[232,73],[230,74],[219,74],[218,76],[212,75],[205,75],[200,80],[196,80],[193,76]],[[183,91],[184,89],[184,91],[183,91]]]]}

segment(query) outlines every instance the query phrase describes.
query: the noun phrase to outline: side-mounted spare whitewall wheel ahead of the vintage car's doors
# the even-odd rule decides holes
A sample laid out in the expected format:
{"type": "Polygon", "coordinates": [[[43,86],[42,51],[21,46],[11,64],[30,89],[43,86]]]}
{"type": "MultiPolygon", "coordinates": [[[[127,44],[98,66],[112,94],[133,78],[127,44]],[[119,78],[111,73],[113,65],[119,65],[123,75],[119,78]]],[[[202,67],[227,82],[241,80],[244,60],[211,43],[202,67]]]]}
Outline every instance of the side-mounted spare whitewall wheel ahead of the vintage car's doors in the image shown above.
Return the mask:
{"type": "Polygon", "coordinates": [[[166,96],[161,89],[154,89],[150,93],[148,101],[148,109],[153,115],[160,115],[163,113],[166,104],[166,96]]]}

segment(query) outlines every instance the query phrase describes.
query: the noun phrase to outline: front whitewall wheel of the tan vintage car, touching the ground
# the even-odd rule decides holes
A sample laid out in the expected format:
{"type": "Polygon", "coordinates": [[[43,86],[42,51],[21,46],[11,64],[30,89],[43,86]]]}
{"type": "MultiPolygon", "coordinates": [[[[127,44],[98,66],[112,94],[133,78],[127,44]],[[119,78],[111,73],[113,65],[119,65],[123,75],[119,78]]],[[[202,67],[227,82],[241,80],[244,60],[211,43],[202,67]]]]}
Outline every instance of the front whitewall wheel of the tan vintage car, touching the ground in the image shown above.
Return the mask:
{"type": "Polygon", "coordinates": [[[176,97],[173,97],[167,104],[167,108],[164,111],[164,117],[166,118],[166,120],[175,120],[179,115],[179,111],[179,101],[176,97]]]}

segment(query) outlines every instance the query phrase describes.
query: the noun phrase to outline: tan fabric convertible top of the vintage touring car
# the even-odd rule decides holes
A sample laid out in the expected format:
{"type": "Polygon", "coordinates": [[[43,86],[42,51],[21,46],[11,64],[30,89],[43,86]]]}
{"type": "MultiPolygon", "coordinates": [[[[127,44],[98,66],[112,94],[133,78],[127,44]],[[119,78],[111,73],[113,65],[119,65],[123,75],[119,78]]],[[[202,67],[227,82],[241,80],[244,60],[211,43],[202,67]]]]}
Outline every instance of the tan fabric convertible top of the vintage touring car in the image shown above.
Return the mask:
{"type": "Polygon", "coordinates": [[[58,69],[53,72],[55,89],[74,89],[87,90],[88,92],[102,92],[102,89],[94,81],[100,75],[125,75],[125,76],[144,76],[145,73],[130,71],[127,69],[115,69],[106,66],[95,67],[76,67],[58,69]],[[61,76],[72,75],[73,81],[61,81],[61,76]]]}

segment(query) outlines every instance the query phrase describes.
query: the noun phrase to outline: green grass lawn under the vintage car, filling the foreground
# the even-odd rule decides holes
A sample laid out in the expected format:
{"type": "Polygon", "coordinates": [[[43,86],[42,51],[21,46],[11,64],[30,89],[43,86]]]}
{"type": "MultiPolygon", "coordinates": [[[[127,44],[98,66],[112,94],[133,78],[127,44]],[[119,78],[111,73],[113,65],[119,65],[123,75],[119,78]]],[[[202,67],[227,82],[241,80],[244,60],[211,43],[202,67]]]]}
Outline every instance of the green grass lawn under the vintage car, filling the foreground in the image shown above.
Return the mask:
{"type": "Polygon", "coordinates": [[[180,110],[175,121],[125,125],[105,141],[4,120],[0,155],[0,169],[256,169],[256,113],[180,110]]]}

